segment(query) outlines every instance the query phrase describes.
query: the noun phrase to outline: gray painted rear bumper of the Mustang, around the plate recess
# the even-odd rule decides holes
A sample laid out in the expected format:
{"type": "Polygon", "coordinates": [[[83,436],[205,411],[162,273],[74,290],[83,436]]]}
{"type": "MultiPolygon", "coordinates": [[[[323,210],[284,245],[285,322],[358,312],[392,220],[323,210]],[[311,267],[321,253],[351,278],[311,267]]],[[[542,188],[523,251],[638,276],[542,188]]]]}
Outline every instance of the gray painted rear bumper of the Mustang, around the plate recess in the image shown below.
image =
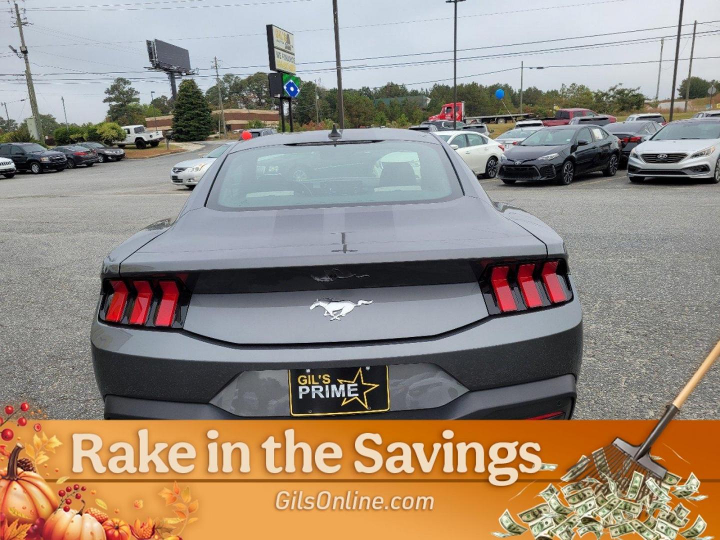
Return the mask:
{"type": "MultiPolygon", "coordinates": [[[[396,364],[433,364],[468,390],[443,407],[415,411],[416,416],[411,410],[397,411],[398,418],[503,418],[498,406],[492,404],[463,405],[464,412],[459,412],[466,400],[477,404],[498,394],[505,395],[502,407],[510,418],[528,418],[552,411],[521,412],[518,407],[523,408],[526,400],[523,392],[513,392],[512,387],[544,387],[551,379],[569,375],[573,383],[570,401],[574,403],[582,359],[582,312],[576,294],[564,305],[490,317],[432,338],[318,346],[235,346],[184,330],[112,326],[95,320],[91,348],[96,380],[106,399],[107,415],[112,418],[123,414],[127,418],[129,413],[118,412],[126,408],[135,410],[133,414],[138,417],[155,418],[143,412],[145,401],[161,402],[158,410],[168,408],[169,412],[162,414],[171,418],[176,418],[172,410],[178,411],[180,418],[219,414],[217,411],[228,418],[240,418],[209,404],[243,372],[396,364]],[[175,408],[177,403],[186,406],[175,408]]],[[[567,397],[567,392],[566,388],[546,394],[554,399],[567,397]]],[[[500,401],[493,397],[495,402],[500,401]]],[[[564,406],[568,415],[572,403],[564,406]]],[[[379,416],[393,418],[394,414],[391,410],[379,416]]]]}

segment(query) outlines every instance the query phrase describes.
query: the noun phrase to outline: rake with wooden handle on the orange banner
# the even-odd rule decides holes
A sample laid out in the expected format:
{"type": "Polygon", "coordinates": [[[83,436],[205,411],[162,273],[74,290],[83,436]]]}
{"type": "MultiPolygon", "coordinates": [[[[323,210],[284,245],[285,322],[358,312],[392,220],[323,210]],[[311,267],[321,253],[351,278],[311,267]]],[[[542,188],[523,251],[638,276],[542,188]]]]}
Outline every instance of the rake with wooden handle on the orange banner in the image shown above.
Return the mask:
{"type": "MultiPolygon", "coordinates": [[[[593,478],[603,483],[602,487],[598,487],[599,492],[607,494],[610,491],[608,487],[609,482],[606,480],[609,478],[615,482],[618,492],[626,493],[630,487],[630,482],[634,472],[639,472],[644,475],[644,481],[642,486],[639,488],[638,494],[634,500],[642,500],[645,495],[650,495],[650,498],[654,498],[651,490],[647,487],[647,479],[653,478],[657,485],[665,477],[667,469],[662,465],[654,462],[652,457],[649,455],[650,448],[657,438],[660,437],[662,431],[665,430],[670,420],[678,414],[678,411],[688,399],[698,383],[705,377],[708,369],[714,364],[716,359],[720,356],[720,341],[716,344],[707,358],[703,361],[698,370],[690,378],[688,384],[675,397],[671,405],[667,406],[665,414],[657,422],[655,427],[652,429],[650,434],[647,436],[645,441],[639,446],[634,446],[621,438],[616,438],[610,446],[601,448],[593,452],[589,458],[585,458],[578,462],[570,471],[570,480],[577,482],[580,480],[593,478]]],[[[567,477],[567,476],[566,476],[567,477]]]]}

